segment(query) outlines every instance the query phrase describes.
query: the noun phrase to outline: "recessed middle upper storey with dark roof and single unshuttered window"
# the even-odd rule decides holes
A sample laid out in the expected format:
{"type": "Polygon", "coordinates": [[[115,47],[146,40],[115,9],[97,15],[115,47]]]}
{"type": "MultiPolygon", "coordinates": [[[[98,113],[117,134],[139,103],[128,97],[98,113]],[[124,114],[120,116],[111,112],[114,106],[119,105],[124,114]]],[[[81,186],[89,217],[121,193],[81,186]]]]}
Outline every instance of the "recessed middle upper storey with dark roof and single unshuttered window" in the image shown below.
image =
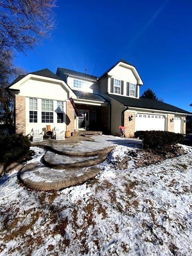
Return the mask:
{"type": "Polygon", "coordinates": [[[58,68],[56,74],[62,80],[64,80],[72,90],[78,90],[82,92],[99,91],[97,76],[92,76],[66,68],[58,68]]]}

